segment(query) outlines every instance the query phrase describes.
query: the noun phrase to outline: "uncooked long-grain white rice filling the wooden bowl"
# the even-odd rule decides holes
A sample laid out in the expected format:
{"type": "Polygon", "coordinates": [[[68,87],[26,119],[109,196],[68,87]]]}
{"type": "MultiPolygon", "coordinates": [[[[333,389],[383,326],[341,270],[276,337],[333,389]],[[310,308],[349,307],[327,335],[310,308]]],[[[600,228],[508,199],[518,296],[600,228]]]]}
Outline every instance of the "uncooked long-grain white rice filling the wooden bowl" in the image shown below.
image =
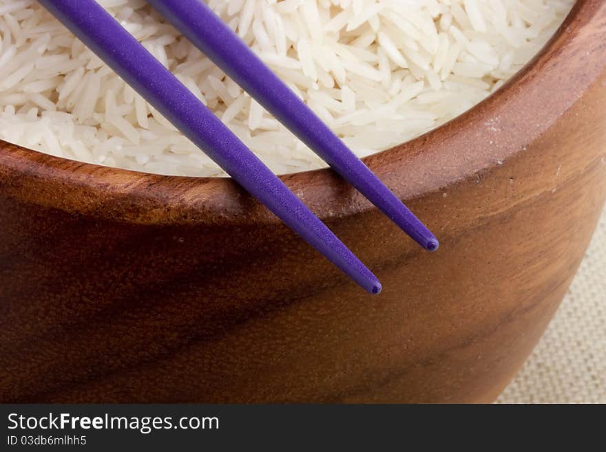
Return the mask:
{"type": "MultiPolygon", "coordinates": [[[[276,173],[324,166],[144,0],[99,0],[276,173]]],[[[573,0],[209,0],[364,156],[503,85],[573,0]]],[[[0,138],[171,175],[224,175],[34,0],[0,0],[0,138]]]]}

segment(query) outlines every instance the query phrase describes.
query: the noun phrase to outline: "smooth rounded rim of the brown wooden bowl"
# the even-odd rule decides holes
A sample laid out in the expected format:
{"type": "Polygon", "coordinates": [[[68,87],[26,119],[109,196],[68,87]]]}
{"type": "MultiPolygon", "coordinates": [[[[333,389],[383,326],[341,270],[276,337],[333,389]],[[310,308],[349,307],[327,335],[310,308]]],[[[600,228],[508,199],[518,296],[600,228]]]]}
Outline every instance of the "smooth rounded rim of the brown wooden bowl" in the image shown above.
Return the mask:
{"type": "MultiPolygon", "coordinates": [[[[599,27],[600,20],[606,17],[604,3],[577,0],[539,53],[497,92],[445,124],[362,160],[400,199],[410,200],[500,166],[510,156],[525,151],[525,144],[545,131],[603,70],[605,63],[596,61],[606,58],[592,58],[589,67],[575,64],[583,61],[578,52],[579,41],[589,33],[595,34],[592,28],[599,27]],[[592,23],[594,17],[598,17],[597,25],[592,23]],[[547,101],[549,96],[538,96],[541,88],[557,88],[565,83],[561,74],[553,74],[558,67],[567,70],[566,78],[574,80],[575,85],[568,83],[565,93],[558,92],[547,101]],[[541,74],[543,68],[552,70],[541,74]],[[545,118],[537,122],[537,127],[528,127],[532,122],[531,98],[540,98],[539,113],[550,110],[549,118],[543,115],[545,118]],[[483,138],[479,131],[483,126],[494,131],[490,147],[480,144],[483,138]],[[511,131],[516,131],[514,136],[511,131]],[[445,159],[445,154],[450,158],[445,159]]],[[[536,105],[534,110],[536,114],[536,105]]],[[[280,175],[280,179],[322,219],[373,208],[327,168],[280,175]]],[[[0,192],[7,189],[36,204],[129,222],[279,222],[229,177],[158,175],[118,169],[55,157],[0,140],[0,192]]]]}

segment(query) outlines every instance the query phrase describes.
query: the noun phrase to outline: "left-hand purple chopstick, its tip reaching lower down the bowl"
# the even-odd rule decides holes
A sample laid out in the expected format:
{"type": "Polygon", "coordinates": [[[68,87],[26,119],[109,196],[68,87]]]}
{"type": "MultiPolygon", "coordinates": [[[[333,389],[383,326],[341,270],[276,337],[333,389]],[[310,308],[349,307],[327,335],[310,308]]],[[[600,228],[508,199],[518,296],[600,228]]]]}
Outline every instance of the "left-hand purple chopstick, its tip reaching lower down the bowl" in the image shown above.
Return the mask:
{"type": "Polygon", "coordinates": [[[160,114],[368,292],[381,283],[223,123],[94,0],[39,0],[160,114]]]}

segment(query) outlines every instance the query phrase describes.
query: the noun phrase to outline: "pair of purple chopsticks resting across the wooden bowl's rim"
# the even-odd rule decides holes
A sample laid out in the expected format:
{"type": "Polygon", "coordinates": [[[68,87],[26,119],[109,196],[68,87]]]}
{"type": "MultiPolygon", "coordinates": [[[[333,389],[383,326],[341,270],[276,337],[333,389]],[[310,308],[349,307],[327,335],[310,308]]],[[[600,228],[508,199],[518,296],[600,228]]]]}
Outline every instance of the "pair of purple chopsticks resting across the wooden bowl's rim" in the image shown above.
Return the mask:
{"type": "MultiPolygon", "coordinates": [[[[39,0],[101,60],[311,246],[370,293],[381,283],[194,94],[95,0],[39,0]]],[[[419,245],[438,241],[201,0],[148,0],[165,19],[419,245]]]]}

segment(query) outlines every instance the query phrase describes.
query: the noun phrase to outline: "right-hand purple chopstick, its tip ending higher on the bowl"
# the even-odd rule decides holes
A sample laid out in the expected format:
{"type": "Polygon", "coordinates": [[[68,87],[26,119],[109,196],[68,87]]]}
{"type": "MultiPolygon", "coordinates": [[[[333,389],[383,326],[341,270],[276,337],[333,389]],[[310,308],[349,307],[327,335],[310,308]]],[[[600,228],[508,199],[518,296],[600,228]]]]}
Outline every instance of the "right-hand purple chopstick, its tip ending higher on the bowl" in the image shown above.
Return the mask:
{"type": "Polygon", "coordinates": [[[201,0],[147,0],[213,63],[426,250],[436,237],[201,0]]]}

